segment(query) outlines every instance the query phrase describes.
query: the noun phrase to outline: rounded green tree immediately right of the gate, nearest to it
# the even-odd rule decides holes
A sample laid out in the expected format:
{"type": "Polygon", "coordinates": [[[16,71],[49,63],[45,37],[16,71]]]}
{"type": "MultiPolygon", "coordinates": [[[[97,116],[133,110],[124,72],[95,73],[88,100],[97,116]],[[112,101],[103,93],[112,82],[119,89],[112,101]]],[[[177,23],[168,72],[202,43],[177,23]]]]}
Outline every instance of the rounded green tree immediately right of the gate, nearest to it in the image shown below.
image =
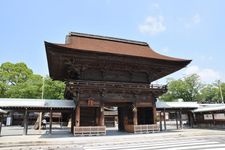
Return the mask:
{"type": "Polygon", "coordinates": [[[176,101],[177,99],[197,101],[201,87],[199,76],[196,74],[179,80],[170,80],[167,93],[162,95],[160,99],[165,101],[176,101]]]}

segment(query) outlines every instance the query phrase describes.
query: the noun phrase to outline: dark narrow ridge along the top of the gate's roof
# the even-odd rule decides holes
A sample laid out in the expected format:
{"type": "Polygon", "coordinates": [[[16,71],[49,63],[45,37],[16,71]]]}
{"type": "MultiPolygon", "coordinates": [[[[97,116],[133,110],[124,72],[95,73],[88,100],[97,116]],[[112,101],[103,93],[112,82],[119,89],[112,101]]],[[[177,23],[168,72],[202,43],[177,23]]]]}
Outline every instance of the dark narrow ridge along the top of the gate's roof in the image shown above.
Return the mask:
{"type": "Polygon", "coordinates": [[[122,39],[122,38],[115,38],[115,37],[111,37],[111,36],[101,36],[101,35],[86,34],[86,33],[79,33],[79,32],[70,32],[69,36],[88,37],[88,38],[94,38],[94,39],[101,39],[101,40],[116,41],[116,42],[136,44],[136,45],[142,45],[142,46],[149,46],[148,43],[146,43],[146,42],[128,40],[128,39],[122,39]]]}

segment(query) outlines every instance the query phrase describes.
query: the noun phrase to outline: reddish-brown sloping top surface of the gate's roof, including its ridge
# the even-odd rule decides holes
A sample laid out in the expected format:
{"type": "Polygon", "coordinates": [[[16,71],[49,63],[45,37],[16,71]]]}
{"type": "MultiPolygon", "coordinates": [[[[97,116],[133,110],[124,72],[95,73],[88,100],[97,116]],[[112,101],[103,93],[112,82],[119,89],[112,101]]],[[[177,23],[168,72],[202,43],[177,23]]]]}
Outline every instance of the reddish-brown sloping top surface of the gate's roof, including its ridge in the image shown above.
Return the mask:
{"type": "MultiPolygon", "coordinates": [[[[50,43],[46,42],[46,44],[50,43]]],[[[190,62],[190,60],[161,55],[153,51],[146,42],[77,32],[70,32],[69,35],[66,36],[65,44],[54,45],[74,50],[190,62]]]]}

